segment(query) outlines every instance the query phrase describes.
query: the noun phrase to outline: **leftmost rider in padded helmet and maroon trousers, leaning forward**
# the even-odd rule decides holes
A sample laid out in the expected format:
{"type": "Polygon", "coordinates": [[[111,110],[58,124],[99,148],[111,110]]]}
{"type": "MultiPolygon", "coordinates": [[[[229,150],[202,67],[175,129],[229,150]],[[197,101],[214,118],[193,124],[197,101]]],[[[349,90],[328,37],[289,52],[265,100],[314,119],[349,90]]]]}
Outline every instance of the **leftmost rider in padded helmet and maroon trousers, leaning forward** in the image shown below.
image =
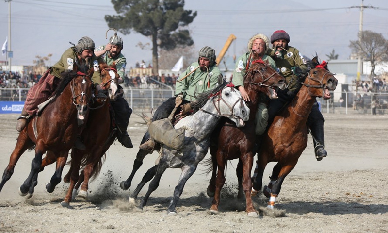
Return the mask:
{"type": "MultiPolygon", "coordinates": [[[[33,85],[28,91],[21,116],[17,119],[17,131],[20,132],[26,127],[30,116],[33,116],[38,111],[38,105],[48,100],[61,82],[61,73],[66,70],[72,70],[74,63],[84,65],[87,64],[86,59],[90,59],[89,66],[94,67],[92,81],[97,89],[97,98],[107,98],[100,85],[101,77],[97,57],[93,53],[94,48],[94,41],[84,36],[78,41],[77,45],[73,44],[73,47],[65,50],[61,59],[54,66],[50,67],[39,79],[39,82],[33,85]]],[[[80,137],[77,137],[74,146],[81,150],[85,149],[85,145],[82,143],[80,137]]]]}

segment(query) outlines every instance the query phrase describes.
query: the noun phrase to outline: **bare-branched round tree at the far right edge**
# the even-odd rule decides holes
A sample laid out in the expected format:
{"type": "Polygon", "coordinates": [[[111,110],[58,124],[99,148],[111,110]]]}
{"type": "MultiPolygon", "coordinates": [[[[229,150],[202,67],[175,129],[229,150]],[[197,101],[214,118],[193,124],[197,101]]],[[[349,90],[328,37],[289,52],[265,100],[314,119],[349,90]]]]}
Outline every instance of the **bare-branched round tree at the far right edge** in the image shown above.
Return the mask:
{"type": "Polygon", "coordinates": [[[351,40],[349,47],[364,61],[371,62],[371,77],[374,77],[376,65],[388,60],[388,42],[382,34],[369,30],[360,32],[359,36],[360,41],[351,40]]]}

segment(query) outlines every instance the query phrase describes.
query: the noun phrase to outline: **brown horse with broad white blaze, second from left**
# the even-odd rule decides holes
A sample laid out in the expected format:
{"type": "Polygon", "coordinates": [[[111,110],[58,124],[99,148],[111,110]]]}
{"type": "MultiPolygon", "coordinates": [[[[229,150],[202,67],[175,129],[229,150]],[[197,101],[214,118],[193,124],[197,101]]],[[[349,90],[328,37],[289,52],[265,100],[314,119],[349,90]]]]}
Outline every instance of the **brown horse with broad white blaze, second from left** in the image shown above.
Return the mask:
{"type": "MultiPolygon", "coordinates": [[[[100,70],[104,90],[108,90],[108,100],[114,101],[118,94],[119,78],[116,65],[114,63],[112,66],[100,64],[100,70]]],[[[99,174],[105,152],[116,138],[112,113],[113,110],[110,112],[109,101],[103,106],[90,111],[89,120],[82,132],[86,150],[73,149],[71,151],[71,166],[64,177],[65,182],[70,181],[70,186],[64,201],[61,203],[63,207],[69,206],[73,194],[76,194],[81,183],[78,197],[87,198],[89,179],[93,180],[99,174]],[[83,168],[81,176],[79,175],[80,167],[83,168]]]]}

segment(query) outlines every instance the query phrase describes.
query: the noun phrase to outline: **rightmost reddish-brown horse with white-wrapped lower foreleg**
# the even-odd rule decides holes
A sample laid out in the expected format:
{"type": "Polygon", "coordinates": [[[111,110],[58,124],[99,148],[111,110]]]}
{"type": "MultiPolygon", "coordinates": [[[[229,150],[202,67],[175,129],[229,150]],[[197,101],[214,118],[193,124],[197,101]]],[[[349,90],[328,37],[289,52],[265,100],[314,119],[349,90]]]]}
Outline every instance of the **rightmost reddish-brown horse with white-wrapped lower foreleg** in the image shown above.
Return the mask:
{"type": "Polygon", "coordinates": [[[330,98],[336,89],[337,79],[327,69],[327,63],[318,63],[314,57],[305,83],[295,98],[279,114],[264,135],[258,153],[258,171],[253,187],[261,189],[263,172],[269,162],[277,162],[264,195],[270,198],[268,208],[273,209],[276,197],[286,176],[292,171],[307,146],[307,117],[317,97],[330,98]]]}

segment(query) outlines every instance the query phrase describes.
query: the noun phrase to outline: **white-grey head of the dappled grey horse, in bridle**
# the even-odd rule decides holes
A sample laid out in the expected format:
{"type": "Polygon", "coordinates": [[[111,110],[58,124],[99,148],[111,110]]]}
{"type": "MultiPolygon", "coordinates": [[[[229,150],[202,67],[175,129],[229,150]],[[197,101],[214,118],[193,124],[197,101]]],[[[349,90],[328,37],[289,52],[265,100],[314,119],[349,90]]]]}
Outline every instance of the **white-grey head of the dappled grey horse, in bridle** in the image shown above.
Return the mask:
{"type": "Polygon", "coordinates": [[[237,127],[244,126],[244,121],[249,119],[250,109],[232,83],[223,83],[211,91],[199,94],[195,104],[202,111],[213,116],[229,118],[236,123],[237,127]],[[205,105],[209,99],[212,104],[205,105]]]}

